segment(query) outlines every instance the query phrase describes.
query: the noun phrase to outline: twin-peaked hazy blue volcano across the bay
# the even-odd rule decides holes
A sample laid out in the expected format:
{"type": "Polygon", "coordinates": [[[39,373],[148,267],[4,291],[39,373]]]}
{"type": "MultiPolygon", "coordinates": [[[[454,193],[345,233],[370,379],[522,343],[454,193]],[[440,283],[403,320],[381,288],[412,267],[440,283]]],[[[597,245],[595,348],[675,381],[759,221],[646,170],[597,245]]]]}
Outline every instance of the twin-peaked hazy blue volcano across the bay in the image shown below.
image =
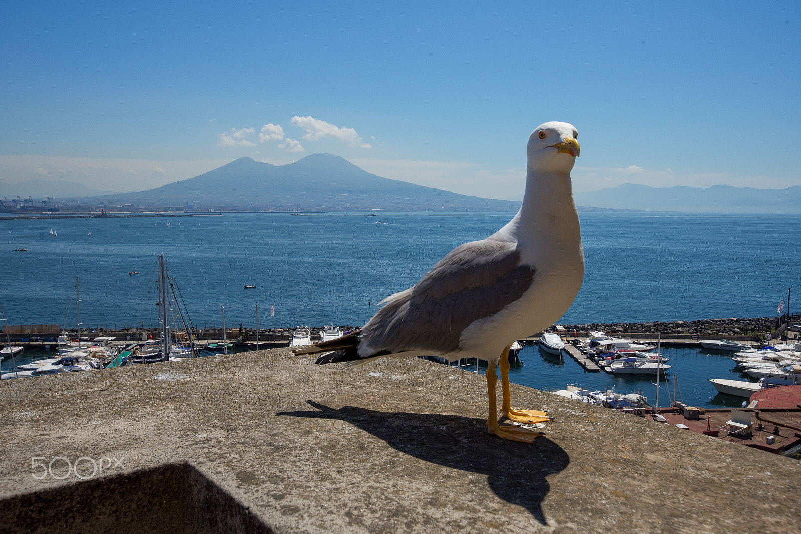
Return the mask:
{"type": "Polygon", "coordinates": [[[81,199],[91,204],[253,210],[517,211],[519,202],[481,199],[373,175],[337,155],[316,153],[276,166],[248,157],[162,187],[81,199]]]}

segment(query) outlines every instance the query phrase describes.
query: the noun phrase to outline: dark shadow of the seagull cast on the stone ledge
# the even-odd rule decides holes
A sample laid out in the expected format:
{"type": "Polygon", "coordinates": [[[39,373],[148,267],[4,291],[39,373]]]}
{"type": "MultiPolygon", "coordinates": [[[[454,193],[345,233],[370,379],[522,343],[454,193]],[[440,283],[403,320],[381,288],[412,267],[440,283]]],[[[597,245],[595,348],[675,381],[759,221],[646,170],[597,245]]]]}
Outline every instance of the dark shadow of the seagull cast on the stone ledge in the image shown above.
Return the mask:
{"type": "Polygon", "coordinates": [[[279,412],[278,416],[345,421],[384,440],[390,447],[432,464],[487,476],[502,500],[528,510],[546,525],[541,502],[550,486],[545,479],[570,464],[567,453],[545,437],[536,444],[501,440],[486,432],[485,421],[461,416],[376,412],[345,406],[340,410],[308,401],[315,412],[279,412]]]}

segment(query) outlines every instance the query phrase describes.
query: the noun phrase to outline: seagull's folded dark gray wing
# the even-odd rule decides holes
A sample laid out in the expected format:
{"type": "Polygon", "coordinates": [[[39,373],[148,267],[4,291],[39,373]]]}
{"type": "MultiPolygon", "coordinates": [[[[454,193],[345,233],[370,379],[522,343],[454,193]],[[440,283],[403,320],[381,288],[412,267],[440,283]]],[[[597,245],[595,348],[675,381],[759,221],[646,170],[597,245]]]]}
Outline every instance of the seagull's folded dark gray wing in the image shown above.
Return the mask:
{"type": "Polygon", "coordinates": [[[466,327],[520,299],[535,274],[532,266],[520,264],[517,243],[493,239],[465,243],[445,255],[414,287],[386,299],[364,326],[361,344],[372,354],[457,351],[466,327]]]}

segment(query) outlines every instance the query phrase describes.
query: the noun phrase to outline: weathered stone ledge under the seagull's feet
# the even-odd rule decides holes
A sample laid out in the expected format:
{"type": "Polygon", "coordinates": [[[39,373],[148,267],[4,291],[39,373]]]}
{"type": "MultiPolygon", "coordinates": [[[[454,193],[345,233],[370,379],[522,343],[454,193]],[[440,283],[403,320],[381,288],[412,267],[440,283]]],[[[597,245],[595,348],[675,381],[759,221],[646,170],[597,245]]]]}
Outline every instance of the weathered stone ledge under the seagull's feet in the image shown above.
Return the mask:
{"type": "Polygon", "coordinates": [[[274,349],[6,380],[0,531],[801,531],[796,460],[512,394],[557,418],[537,444],[485,432],[483,376],[422,359],[274,349]],[[35,480],[57,456],[122,460],[35,480]]]}

